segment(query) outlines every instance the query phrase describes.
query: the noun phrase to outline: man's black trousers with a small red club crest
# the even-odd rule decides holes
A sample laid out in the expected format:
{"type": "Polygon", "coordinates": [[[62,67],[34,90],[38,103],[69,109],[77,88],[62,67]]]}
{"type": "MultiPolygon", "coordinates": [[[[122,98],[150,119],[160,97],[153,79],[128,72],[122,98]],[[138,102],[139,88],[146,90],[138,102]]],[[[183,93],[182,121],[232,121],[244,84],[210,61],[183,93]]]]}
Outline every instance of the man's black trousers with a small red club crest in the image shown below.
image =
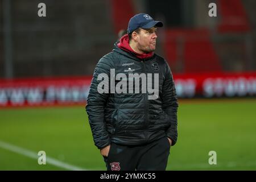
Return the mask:
{"type": "Polygon", "coordinates": [[[108,171],[164,171],[169,154],[169,140],[163,137],[139,146],[112,143],[104,161],[108,171]]]}

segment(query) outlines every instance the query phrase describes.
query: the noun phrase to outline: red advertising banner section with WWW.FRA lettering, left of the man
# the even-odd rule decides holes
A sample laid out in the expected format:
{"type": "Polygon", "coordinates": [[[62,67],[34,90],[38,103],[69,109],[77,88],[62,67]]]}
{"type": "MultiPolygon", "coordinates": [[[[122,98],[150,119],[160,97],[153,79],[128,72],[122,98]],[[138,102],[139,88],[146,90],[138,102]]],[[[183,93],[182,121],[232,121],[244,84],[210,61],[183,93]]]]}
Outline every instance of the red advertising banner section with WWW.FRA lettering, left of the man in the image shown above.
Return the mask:
{"type": "Polygon", "coordinates": [[[0,107],[85,104],[92,77],[0,80],[0,107]]]}

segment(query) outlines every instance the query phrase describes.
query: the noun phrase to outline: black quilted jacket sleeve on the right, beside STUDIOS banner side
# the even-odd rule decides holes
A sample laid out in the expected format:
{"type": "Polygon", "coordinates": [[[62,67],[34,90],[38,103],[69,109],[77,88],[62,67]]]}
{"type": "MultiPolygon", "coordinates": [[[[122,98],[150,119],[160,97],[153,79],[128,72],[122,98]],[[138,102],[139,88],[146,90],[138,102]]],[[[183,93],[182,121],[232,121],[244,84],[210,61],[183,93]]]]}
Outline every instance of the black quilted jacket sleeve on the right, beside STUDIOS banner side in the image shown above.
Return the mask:
{"type": "Polygon", "coordinates": [[[171,69],[166,63],[166,76],[163,84],[163,110],[170,119],[171,126],[166,130],[167,137],[171,138],[172,146],[177,142],[177,96],[174,85],[174,78],[172,76],[171,69]]]}

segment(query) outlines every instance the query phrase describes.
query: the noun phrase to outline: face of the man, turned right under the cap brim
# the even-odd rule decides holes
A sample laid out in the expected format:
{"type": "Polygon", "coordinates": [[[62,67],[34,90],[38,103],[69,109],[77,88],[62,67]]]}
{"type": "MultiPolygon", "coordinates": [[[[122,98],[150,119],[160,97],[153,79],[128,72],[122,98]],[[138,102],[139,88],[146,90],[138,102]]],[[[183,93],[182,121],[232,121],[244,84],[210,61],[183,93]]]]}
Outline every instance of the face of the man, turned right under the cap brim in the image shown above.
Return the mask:
{"type": "Polygon", "coordinates": [[[137,34],[138,49],[144,53],[155,51],[156,46],[156,27],[143,29],[137,34]]]}

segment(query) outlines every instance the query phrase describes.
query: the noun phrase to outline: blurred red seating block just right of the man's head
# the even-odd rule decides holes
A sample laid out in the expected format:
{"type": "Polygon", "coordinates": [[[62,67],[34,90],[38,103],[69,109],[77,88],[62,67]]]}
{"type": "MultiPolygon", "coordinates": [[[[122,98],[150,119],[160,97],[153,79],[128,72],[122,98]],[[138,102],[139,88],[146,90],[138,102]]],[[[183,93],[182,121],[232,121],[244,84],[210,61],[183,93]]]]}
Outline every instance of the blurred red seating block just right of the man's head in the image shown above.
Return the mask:
{"type": "Polygon", "coordinates": [[[166,30],[164,49],[174,72],[220,72],[221,65],[207,29],[166,30]],[[182,70],[179,67],[182,64],[182,70]]]}

